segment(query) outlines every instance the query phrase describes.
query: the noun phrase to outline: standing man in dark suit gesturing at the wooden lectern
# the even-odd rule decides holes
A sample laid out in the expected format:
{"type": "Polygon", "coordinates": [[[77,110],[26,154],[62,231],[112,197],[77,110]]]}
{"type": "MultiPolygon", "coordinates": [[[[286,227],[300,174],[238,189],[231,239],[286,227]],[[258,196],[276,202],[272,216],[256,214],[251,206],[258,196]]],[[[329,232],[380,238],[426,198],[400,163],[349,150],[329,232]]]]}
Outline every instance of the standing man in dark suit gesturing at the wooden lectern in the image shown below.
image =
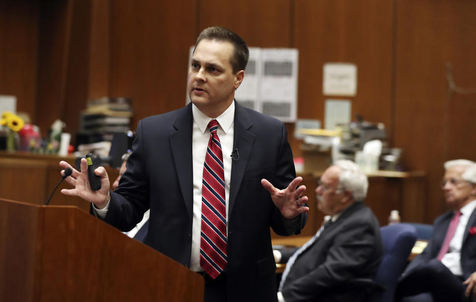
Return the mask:
{"type": "Polygon", "coordinates": [[[234,100],[248,56],[232,31],[205,29],[188,70],[191,103],[139,122],[119,187],[110,191],[99,167],[102,188],[91,191],[82,160],[67,178],[75,188],[61,191],[124,231],[150,208],[146,243],[204,275],[207,302],[276,301],[269,227],[297,234],[309,210],[284,124],[234,100]]]}

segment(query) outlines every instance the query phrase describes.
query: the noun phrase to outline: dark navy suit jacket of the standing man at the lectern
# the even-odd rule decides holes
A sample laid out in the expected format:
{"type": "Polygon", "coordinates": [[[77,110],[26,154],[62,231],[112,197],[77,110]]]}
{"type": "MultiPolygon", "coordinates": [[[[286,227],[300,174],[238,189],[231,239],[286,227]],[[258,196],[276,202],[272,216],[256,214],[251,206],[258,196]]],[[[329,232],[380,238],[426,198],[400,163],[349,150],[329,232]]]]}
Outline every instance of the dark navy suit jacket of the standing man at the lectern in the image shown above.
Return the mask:
{"type": "MultiPolygon", "coordinates": [[[[299,216],[284,219],[261,185],[286,188],[296,177],[284,124],[235,102],[233,160],[228,212],[229,301],[276,301],[270,226],[281,235],[299,233],[299,216]]],[[[191,104],[139,122],[137,139],[119,187],[111,193],[105,221],[127,230],[150,207],[146,242],[189,266],[192,234],[191,104]]],[[[224,154],[223,156],[229,156],[224,154]]]]}

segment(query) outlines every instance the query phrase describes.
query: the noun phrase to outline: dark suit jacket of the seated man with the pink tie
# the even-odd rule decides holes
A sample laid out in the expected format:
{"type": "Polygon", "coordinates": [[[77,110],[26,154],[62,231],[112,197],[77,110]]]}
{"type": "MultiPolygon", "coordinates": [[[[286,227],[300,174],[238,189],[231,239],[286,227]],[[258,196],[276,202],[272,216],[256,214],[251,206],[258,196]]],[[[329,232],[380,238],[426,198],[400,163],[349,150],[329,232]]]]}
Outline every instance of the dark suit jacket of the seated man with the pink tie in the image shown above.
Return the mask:
{"type": "MultiPolygon", "coordinates": [[[[425,263],[430,259],[436,258],[440,252],[441,245],[445,240],[446,231],[453,218],[453,211],[438,216],[433,222],[433,235],[428,242],[424,251],[415,257],[405,269],[403,276],[408,275],[415,270],[418,265],[425,263]]],[[[463,278],[466,280],[472,273],[476,271],[476,235],[469,233],[470,227],[476,227],[476,210],[470,216],[468,225],[463,236],[463,244],[461,246],[461,267],[463,269],[463,278]]]]}

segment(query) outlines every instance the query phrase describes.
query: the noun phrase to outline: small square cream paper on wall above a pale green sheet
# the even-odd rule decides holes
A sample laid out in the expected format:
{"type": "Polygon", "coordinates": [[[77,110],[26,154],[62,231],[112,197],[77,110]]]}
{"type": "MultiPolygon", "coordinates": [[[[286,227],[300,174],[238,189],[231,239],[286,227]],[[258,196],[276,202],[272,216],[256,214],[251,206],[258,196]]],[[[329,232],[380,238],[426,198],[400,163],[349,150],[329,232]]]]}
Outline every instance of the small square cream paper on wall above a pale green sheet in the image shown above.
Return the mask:
{"type": "Polygon", "coordinates": [[[324,95],[357,95],[357,66],[350,63],[326,63],[323,66],[324,95]]]}

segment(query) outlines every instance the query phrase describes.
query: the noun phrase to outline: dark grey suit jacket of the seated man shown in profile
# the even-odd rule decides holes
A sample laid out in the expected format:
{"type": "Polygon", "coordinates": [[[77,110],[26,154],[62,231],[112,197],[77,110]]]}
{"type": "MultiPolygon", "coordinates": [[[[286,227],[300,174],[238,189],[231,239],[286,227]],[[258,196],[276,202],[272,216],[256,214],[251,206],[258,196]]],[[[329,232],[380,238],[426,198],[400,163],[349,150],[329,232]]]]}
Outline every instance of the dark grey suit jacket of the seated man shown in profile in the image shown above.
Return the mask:
{"type": "Polygon", "coordinates": [[[372,278],[382,255],[378,221],[369,208],[356,202],[297,257],[282,294],[286,302],[358,301],[364,292],[346,282],[372,278]]]}

